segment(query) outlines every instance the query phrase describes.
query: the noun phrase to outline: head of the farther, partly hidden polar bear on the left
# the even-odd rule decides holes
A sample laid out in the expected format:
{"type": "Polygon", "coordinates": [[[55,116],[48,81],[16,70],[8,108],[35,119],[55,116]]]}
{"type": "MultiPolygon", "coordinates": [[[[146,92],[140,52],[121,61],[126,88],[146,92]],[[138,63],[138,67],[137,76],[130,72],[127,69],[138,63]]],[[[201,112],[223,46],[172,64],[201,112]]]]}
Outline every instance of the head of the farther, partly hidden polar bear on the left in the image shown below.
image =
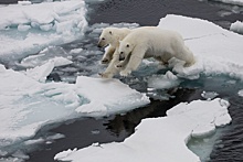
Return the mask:
{"type": "Polygon", "coordinates": [[[98,47],[107,46],[114,42],[114,28],[104,29],[98,40],[98,47]]]}

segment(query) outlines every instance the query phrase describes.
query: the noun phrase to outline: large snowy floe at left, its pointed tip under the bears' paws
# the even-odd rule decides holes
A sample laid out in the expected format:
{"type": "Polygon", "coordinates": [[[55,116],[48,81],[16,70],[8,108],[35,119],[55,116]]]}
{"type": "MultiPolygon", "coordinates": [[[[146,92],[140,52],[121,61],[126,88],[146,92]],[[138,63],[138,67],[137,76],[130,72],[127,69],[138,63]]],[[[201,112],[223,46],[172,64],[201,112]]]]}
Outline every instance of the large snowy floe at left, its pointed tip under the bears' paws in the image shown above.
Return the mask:
{"type": "Polygon", "coordinates": [[[25,73],[0,66],[0,147],[25,140],[47,123],[149,104],[148,97],[117,79],[80,76],[76,84],[45,83],[53,67],[52,60],[25,73]]]}

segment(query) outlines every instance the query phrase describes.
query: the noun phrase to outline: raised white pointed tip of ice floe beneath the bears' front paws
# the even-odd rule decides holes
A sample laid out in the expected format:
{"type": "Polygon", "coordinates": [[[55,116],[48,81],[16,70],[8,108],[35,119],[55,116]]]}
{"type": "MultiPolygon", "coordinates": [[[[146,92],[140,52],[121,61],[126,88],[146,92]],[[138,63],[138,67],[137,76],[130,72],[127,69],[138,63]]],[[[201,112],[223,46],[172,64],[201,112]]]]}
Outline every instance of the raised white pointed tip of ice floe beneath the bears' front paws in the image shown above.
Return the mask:
{"type": "Polygon", "coordinates": [[[89,99],[88,104],[80,106],[76,111],[87,116],[108,116],[150,102],[145,94],[130,89],[117,79],[80,76],[76,85],[78,94],[89,99]]]}

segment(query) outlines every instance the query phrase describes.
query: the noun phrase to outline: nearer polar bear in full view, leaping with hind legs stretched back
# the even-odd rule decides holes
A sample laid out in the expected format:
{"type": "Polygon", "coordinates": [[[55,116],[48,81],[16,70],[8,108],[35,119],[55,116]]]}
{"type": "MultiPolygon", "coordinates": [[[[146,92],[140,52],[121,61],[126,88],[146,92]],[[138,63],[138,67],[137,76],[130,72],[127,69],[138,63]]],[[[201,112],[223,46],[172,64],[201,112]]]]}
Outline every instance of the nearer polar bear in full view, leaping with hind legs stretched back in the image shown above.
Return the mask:
{"type": "Polygon", "coordinates": [[[170,30],[138,29],[130,32],[119,44],[119,57],[124,61],[116,66],[124,68],[122,76],[136,71],[142,58],[155,57],[167,63],[171,57],[184,61],[184,66],[194,64],[192,52],[184,45],[182,36],[170,30]]]}

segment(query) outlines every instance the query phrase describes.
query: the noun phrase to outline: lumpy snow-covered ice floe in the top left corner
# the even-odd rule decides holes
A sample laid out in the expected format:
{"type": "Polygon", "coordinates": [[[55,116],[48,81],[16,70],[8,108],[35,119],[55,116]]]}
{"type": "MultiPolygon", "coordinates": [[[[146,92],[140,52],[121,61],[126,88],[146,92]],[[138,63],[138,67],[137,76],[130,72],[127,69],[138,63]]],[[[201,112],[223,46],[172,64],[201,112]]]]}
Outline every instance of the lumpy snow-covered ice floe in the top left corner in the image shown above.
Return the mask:
{"type": "Polygon", "coordinates": [[[1,7],[1,58],[22,58],[80,39],[87,28],[85,14],[85,2],[80,0],[1,7]]]}

